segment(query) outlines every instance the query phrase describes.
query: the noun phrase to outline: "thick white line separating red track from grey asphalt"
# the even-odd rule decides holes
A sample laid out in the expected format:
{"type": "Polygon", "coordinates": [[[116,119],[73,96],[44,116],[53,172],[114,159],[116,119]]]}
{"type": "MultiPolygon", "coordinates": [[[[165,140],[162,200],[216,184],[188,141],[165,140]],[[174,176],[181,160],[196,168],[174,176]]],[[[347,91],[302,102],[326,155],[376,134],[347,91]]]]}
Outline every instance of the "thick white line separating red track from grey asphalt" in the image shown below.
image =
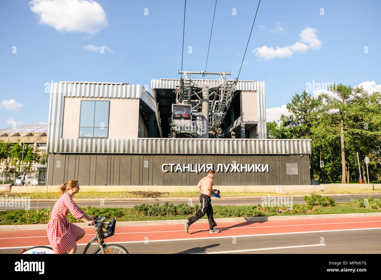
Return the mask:
{"type": "MultiPolygon", "coordinates": [[[[368,230],[368,229],[381,229],[381,227],[370,227],[370,228],[366,228],[366,229],[334,229],[334,230],[316,230],[316,231],[301,231],[301,232],[281,232],[281,233],[272,233],[272,234],[248,234],[248,235],[163,239],[163,240],[149,240],[148,242],[186,241],[186,240],[200,240],[200,239],[213,239],[213,238],[252,237],[252,236],[282,235],[282,234],[308,234],[308,233],[316,233],[316,232],[334,232],[334,231],[368,230]]],[[[143,242],[147,242],[147,240],[112,242],[112,243],[124,244],[124,243],[143,243],[143,242]]],[[[82,243],[82,244],[77,244],[77,245],[82,246],[82,245],[87,245],[87,243],[82,243]]],[[[91,245],[98,245],[98,243],[93,243],[91,245]]],[[[38,245],[38,246],[50,246],[50,245],[38,245]]],[[[34,247],[34,246],[0,247],[0,250],[2,250],[2,249],[17,249],[17,248],[31,248],[31,247],[34,247]]]]}

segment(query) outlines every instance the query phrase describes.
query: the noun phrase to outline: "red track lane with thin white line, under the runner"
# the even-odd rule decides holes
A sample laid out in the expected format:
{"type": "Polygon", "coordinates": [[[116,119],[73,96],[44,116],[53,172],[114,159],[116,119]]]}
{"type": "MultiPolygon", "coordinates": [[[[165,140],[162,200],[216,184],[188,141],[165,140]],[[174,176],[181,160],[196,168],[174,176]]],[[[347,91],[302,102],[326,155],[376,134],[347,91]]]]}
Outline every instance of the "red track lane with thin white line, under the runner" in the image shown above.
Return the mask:
{"type": "MultiPolygon", "coordinates": [[[[106,239],[107,243],[124,242],[159,242],[165,240],[184,240],[194,238],[240,237],[261,234],[284,234],[293,232],[314,232],[348,229],[381,229],[381,217],[355,217],[330,219],[302,219],[264,222],[224,222],[218,223],[220,232],[210,234],[208,224],[192,224],[189,234],[184,224],[160,226],[116,227],[114,236],[106,239]],[[147,239],[148,238],[148,239],[147,239]]],[[[86,235],[78,244],[86,244],[94,237],[93,227],[85,228],[86,235]]],[[[46,230],[10,230],[0,231],[0,248],[32,247],[49,245],[46,230]]]]}

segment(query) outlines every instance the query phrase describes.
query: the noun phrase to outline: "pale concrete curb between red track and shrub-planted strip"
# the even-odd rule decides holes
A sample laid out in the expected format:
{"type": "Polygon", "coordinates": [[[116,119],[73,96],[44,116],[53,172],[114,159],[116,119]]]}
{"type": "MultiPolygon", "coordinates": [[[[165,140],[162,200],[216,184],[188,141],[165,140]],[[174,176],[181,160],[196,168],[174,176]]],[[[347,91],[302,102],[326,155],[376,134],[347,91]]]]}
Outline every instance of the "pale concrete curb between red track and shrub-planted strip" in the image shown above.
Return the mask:
{"type": "MultiPolygon", "coordinates": [[[[346,214],[315,214],[315,215],[290,215],[290,216],[268,216],[268,217],[247,217],[247,218],[217,218],[217,223],[221,222],[261,222],[261,221],[282,221],[282,220],[304,220],[304,219],[327,219],[327,218],[352,218],[352,217],[381,217],[381,212],[370,213],[346,213],[346,214]]],[[[162,221],[131,221],[131,222],[117,222],[118,227],[130,226],[163,226],[163,225],[176,225],[184,224],[185,220],[162,220],[162,221]]],[[[196,223],[207,224],[208,219],[199,219],[196,223]]],[[[89,227],[85,223],[75,223],[81,228],[89,227]]],[[[38,225],[11,225],[0,226],[0,231],[3,230],[38,230],[46,229],[46,224],[38,225]]]]}

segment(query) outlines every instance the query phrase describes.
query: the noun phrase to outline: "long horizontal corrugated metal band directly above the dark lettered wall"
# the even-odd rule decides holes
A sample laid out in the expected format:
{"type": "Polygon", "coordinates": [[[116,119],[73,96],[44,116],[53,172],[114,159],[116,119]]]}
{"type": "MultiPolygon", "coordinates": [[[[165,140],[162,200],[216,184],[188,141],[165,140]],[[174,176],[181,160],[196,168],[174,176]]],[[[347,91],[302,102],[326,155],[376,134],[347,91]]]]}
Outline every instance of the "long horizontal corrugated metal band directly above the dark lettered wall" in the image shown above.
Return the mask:
{"type": "Polygon", "coordinates": [[[58,139],[50,153],[311,154],[308,139],[58,139]]]}

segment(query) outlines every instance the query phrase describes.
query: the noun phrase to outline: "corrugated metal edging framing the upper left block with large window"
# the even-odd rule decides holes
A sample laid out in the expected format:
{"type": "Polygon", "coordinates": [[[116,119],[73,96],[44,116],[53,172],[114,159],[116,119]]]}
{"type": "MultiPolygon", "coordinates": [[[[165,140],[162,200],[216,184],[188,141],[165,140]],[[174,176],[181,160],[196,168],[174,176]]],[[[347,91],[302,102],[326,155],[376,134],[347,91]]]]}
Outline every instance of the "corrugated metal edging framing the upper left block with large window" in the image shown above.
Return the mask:
{"type": "Polygon", "coordinates": [[[73,97],[106,97],[106,98],[140,98],[155,114],[158,129],[160,115],[157,103],[142,85],[126,85],[121,83],[54,83],[51,88],[49,106],[49,126],[47,147],[49,151],[58,149],[58,141],[62,137],[63,108],[65,96],[73,97]]]}

